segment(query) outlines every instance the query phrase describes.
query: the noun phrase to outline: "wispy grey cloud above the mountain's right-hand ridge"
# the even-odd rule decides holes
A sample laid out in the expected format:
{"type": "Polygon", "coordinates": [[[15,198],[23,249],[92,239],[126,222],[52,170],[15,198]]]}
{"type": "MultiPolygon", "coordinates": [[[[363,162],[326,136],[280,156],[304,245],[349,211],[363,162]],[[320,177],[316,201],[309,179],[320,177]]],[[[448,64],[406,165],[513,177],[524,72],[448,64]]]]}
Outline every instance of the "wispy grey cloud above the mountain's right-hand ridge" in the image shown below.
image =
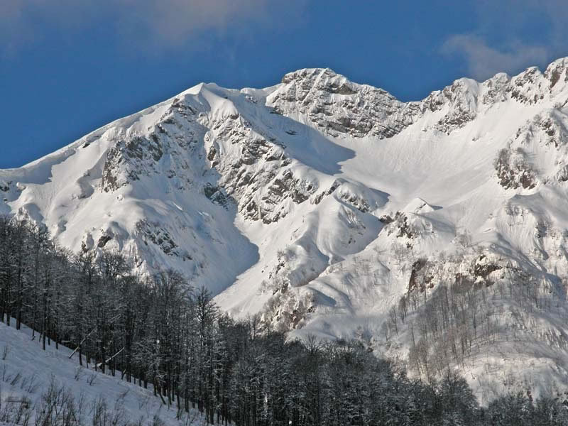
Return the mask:
{"type": "Polygon", "coordinates": [[[480,0],[476,5],[474,31],[450,35],[441,47],[442,54],[464,60],[470,77],[514,74],[568,55],[567,1],[480,0]]]}

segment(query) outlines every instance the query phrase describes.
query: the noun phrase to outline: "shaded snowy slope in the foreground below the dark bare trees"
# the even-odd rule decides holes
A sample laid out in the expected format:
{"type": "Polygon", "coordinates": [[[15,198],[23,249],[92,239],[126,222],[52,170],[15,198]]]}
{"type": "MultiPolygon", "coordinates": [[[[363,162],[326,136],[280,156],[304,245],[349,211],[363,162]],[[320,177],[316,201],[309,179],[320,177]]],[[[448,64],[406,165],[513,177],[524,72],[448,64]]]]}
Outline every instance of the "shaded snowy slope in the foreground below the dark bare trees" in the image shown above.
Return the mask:
{"type": "MultiPolygon", "coordinates": [[[[60,346],[57,350],[52,342],[43,351],[37,334],[35,340],[31,337],[26,327],[17,331],[0,323],[0,416],[9,417],[2,419],[7,424],[24,424],[23,417],[16,421],[22,402],[31,411],[33,422],[40,411],[35,409],[43,407],[50,390],[56,391],[49,395],[52,400],[72,398],[75,414],[84,423],[94,422],[98,408],[99,413],[106,411],[107,422],[115,424],[116,420],[116,425],[152,425],[155,417],[164,425],[187,424],[187,418],[192,425],[207,424],[197,410],[190,410],[189,417],[184,414],[178,420],[177,407],[161,403],[151,386],[144,389],[121,380],[120,372],[111,376],[94,371],[93,364],[89,368],[79,366],[77,354],[69,358],[70,349],[60,346]],[[58,398],[54,398],[58,391],[58,398]]],[[[63,412],[63,405],[55,411],[63,412]]]]}

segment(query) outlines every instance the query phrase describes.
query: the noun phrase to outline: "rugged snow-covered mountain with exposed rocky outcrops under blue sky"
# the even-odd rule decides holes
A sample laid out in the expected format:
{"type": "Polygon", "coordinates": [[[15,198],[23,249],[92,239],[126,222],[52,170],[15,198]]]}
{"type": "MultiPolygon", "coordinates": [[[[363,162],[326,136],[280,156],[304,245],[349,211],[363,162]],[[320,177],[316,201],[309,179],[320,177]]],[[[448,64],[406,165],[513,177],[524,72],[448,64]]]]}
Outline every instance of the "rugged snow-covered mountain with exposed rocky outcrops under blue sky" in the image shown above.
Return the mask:
{"type": "Polygon", "coordinates": [[[72,251],[178,269],[236,317],[355,335],[417,373],[449,359],[484,392],[562,388],[567,69],[460,79],[408,103],[329,69],[266,89],[198,84],[0,170],[0,214],[72,251]],[[447,287],[469,297],[447,302],[456,324],[435,305],[447,287]],[[444,326],[429,341],[432,309],[444,326]]]}

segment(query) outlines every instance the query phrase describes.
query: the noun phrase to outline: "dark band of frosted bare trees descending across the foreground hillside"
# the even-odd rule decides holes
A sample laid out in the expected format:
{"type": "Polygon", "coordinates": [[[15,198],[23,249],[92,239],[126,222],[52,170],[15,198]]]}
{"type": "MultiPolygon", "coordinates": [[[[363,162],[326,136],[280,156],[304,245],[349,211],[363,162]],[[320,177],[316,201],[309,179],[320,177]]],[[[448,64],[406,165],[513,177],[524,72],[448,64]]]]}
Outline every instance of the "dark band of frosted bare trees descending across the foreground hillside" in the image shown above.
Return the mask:
{"type": "Polygon", "coordinates": [[[258,317],[236,322],[176,271],[138,275],[120,253],[71,253],[13,217],[0,217],[0,318],[212,424],[568,424],[553,398],[481,408],[449,369],[423,382],[360,342],[290,341],[258,317]]]}

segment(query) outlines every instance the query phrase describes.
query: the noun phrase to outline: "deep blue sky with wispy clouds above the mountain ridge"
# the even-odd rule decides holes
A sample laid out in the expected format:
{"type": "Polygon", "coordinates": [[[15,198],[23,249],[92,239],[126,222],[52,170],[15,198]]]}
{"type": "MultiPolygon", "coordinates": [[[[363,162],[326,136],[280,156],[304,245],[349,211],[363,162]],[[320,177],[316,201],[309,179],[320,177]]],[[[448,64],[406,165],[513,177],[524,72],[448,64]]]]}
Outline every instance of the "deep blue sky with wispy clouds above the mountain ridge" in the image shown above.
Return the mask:
{"type": "Polygon", "coordinates": [[[568,55],[568,2],[0,1],[0,168],[198,82],[331,67],[402,100],[568,55]]]}

